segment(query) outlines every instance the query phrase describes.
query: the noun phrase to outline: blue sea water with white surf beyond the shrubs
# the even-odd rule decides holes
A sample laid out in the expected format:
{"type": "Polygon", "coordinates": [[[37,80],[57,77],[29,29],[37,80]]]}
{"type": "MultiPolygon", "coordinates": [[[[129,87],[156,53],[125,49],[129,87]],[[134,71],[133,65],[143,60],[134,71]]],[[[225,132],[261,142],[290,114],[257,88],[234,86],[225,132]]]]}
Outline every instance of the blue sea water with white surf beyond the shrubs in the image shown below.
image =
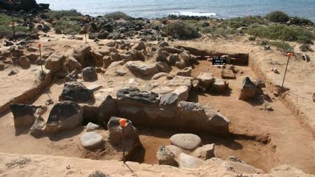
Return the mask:
{"type": "Polygon", "coordinates": [[[37,0],[52,10],[76,9],[92,16],[122,11],[132,17],[165,17],[169,14],[211,17],[266,15],[281,10],[315,22],[315,0],[37,0]]]}

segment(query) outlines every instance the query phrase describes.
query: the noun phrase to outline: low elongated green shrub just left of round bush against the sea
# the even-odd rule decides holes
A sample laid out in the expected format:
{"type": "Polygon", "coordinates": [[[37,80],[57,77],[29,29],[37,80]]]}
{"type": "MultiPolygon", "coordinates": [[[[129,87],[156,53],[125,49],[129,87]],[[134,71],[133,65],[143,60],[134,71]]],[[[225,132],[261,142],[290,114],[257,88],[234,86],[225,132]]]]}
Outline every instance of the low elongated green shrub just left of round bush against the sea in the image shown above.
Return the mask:
{"type": "Polygon", "coordinates": [[[223,22],[225,27],[232,28],[248,27],[251,24],[268,24],[268,22],[260,16],[234,17],[223,22]]]}

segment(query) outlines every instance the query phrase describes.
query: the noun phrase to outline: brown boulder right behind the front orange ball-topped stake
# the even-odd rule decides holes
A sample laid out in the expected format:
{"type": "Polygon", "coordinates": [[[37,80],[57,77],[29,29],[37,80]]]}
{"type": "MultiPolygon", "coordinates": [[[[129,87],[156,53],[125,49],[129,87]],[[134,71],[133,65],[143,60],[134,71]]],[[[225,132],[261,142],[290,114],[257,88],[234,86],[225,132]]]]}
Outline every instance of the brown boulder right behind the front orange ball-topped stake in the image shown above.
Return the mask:
{"type": "Polygon", "coordinates": [[[139,142],[138,130],[132,126],[132,122],[127,120],[127,125],[122,128],[119,123],[120,118],[111,117],[107,123],[107,128],[109,129],[109,142],[114,146],[118,146],[124,141],[134,141],[139,142]],[[124,130],[123,130],[124,129],[124,130]]]}

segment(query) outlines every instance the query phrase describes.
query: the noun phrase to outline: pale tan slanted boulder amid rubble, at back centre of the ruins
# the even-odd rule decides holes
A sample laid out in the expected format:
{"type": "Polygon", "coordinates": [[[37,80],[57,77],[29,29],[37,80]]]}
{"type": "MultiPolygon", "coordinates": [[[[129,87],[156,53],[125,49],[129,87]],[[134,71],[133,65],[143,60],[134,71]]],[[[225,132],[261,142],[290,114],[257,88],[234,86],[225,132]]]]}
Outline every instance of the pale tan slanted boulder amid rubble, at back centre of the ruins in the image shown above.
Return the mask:
{"type": "Polygon", "coordinates": [[[126,63],[126,67],[132,72],[140,73],[142,76],[152,75],[159,72],[156,63],[146,64],[141,61],[130,61],[126,63]]]}

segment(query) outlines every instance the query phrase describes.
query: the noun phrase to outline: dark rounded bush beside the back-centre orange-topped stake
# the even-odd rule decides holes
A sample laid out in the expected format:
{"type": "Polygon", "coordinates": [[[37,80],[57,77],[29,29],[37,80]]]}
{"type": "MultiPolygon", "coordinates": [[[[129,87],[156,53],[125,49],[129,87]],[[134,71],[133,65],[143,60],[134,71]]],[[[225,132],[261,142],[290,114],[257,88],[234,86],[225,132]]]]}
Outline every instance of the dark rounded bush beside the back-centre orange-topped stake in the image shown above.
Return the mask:
{"type": "Polygon", "coordinates": [[[190,39],[200,36],[193,24],[190,24],[183,20],[174,20],[169,25],[165,26],[165,33],[168,33],[169,26],[169,35],[173,36],[174,38],[190,39]]]}

